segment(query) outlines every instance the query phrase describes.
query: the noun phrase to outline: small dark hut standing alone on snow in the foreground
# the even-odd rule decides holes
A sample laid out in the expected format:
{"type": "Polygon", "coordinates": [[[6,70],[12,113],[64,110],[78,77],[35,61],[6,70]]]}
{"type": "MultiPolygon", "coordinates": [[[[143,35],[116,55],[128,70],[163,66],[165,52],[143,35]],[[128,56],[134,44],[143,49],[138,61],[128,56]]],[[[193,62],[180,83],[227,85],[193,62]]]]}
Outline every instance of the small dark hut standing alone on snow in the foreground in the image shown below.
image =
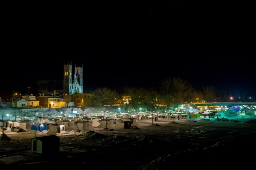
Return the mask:
{"type": "Polygon", "coordinates": [[[56,135],[34,137],[31,140],[31,151],[38,154],[59,151],[59,140],[56,135]]]}

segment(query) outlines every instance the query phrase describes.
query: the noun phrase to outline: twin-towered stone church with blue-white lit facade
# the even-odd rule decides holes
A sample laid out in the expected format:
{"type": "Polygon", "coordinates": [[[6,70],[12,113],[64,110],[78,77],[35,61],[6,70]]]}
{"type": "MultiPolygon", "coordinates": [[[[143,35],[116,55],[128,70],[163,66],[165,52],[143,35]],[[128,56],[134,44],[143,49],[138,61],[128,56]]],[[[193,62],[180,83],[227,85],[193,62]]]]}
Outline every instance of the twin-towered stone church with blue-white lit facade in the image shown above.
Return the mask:
{"type": "Polygon", "coordinates": [[[64,62],[64,77],[63,77],[63,93],[67,102],[71,102],[71,95],[74,93],[83,93],[83,65],[76,67],[72,74],[72,63],[64,62]],[[73,76],[73,77],[72,77],[73,76]]]}

